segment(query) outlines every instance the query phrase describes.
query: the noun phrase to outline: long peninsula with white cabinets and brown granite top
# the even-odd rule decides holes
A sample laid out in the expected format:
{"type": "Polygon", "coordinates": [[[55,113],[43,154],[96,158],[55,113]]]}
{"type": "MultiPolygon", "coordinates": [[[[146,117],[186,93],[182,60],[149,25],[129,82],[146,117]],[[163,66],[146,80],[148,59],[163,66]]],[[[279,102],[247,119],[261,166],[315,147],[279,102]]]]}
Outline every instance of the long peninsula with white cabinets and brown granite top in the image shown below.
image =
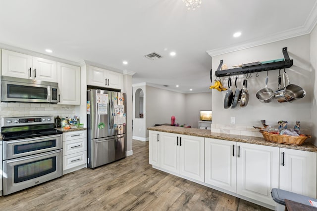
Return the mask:
{"type": "Polygon", "coordinates": [[[317,147],[311,143],[286,145],[198,128],[148,130],[155,169],[270,209],[276,206],[272,188],[316,198],[317,147]]]}

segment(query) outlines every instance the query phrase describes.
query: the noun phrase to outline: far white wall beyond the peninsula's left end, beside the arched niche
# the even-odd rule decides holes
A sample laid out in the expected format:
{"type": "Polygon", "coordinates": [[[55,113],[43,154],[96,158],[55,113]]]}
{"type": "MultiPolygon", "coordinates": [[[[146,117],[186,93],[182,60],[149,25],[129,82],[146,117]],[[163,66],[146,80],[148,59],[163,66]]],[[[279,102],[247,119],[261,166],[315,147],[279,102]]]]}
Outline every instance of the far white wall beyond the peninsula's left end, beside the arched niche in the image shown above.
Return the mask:
{"type": "MultiPolygon", "coordinates": [[[[144,107],[146,128],[153,127],[155,124],[170,124],[171,116],[175,116],[176,124],[187,124],[185,94],[147,85],[144,101],[146,102],[144,107]]],[[[146,137],[149,137],[148,130],[146,130],[146,137]]]]}

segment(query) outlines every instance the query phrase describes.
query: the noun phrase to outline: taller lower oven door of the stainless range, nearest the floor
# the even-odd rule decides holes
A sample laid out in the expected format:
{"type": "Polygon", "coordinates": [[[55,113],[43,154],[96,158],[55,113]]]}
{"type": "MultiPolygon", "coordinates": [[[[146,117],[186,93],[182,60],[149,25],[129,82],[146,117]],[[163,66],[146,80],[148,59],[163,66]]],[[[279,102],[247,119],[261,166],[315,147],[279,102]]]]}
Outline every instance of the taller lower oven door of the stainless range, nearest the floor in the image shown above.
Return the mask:
{"type": "Polygon", "coordinates": [[[3,195],[62,176],[62,150],[3,161],[3,195]]]}

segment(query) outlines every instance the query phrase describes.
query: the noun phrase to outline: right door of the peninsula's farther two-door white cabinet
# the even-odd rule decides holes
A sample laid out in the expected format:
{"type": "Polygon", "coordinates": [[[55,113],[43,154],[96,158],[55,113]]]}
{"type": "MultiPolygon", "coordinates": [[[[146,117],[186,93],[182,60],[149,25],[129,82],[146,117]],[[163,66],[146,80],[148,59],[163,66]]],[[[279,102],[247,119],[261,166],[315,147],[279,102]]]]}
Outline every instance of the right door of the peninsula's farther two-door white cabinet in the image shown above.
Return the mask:
{"type": "Polygon", "coordinates": [[[204,138],[189,135],[179,137],[179,173],[204,182],[204,138]]]}

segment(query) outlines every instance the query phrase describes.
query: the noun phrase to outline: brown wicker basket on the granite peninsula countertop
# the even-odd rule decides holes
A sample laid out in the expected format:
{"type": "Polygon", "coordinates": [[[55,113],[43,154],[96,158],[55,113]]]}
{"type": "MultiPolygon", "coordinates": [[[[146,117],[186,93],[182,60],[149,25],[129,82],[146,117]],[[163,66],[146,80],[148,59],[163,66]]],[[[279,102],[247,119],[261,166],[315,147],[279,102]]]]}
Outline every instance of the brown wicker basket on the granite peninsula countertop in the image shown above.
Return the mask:
{"type": "Polygon", "coordinates": [[[304,141],[307,138],[312,137],[310,135],[306,135],[306,136],[278,135],[278,134],[268,133],[263,130],[260,130],[260,132],[262,133],[266,141],[271,141],[271,142],[280,143],[280,144],[301,145],[304,143],[304,141]]]}

